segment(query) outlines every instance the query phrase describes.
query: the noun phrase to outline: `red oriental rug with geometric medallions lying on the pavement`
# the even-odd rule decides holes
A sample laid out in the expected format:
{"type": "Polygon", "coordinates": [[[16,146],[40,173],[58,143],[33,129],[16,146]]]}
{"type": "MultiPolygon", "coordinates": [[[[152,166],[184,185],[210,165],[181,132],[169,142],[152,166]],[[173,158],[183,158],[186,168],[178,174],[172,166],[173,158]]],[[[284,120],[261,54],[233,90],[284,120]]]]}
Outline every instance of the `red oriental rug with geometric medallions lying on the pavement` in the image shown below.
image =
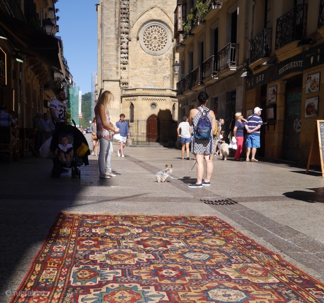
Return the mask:
{"type": "Polygon", "coordinates": [[[11,302],[324,302],[324,285],[215,217],[60,213],[11,302]]]}

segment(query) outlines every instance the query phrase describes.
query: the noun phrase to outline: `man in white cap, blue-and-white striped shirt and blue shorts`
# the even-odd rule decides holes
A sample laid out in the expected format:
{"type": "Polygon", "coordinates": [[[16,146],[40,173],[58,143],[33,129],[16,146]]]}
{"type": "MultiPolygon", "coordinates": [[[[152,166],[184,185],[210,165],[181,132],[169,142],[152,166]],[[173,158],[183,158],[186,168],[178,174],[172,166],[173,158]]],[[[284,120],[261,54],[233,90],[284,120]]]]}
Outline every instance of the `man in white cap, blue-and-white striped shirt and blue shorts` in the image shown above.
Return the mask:
{"type": "Polygon", "coordinates": [[[247,148],[247,162],[250,162],[250,152],[252,148],[252,157],[251,162],[258,162],[258,160],[255,159],[255,153],[257,152],[257,148],[260,147],[260,128],[263,124],[262,119],[260,117],[262,108],[256,107],[254,109],[254,114],[250,116],[245,122],[245,128],[247,129],[247,142],[246,142],[246,148],[247,148]]]}

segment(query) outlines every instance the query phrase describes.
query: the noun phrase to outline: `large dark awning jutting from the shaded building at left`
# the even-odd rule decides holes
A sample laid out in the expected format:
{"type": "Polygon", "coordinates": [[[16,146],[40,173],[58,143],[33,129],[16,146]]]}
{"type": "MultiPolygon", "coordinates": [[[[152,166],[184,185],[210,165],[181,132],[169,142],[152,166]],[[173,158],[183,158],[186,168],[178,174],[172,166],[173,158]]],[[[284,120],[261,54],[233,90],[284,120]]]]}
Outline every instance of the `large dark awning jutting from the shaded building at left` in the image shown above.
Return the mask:
{"type": "Polygon", "coordinates": [[[0,27],[14,48],[23,54],[36,57],[57,71],[62,66],[59,40],[0,10],[0,27]]]}

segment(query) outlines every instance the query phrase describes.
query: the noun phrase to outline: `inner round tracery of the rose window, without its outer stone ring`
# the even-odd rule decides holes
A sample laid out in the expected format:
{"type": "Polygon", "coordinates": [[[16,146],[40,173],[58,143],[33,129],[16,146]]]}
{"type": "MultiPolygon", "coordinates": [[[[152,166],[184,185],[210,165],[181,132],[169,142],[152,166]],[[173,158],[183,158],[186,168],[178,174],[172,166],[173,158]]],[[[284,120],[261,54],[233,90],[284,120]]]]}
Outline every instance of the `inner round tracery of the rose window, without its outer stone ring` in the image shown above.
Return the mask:
{"type": "Polygon", "coordinates": [[[153,25],[145,29],[143,42],[148,50],[161,51],[167,46],[168,34],[164,28],[153,25]]]}

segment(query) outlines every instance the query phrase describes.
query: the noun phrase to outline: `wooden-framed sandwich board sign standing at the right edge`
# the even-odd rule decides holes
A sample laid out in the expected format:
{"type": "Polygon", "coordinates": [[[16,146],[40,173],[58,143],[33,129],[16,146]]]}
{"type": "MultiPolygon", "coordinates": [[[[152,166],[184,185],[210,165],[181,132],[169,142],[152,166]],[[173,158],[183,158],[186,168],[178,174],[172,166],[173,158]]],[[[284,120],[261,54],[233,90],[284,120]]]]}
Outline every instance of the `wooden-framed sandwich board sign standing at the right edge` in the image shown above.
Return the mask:
{"type": "Polygon", "coordinates": [[[308,174],[309,165],[320,165],[322,177],[324,178],[324,120],[316,120],[312,144],[308,157],[306,174],[308,174]]]}

